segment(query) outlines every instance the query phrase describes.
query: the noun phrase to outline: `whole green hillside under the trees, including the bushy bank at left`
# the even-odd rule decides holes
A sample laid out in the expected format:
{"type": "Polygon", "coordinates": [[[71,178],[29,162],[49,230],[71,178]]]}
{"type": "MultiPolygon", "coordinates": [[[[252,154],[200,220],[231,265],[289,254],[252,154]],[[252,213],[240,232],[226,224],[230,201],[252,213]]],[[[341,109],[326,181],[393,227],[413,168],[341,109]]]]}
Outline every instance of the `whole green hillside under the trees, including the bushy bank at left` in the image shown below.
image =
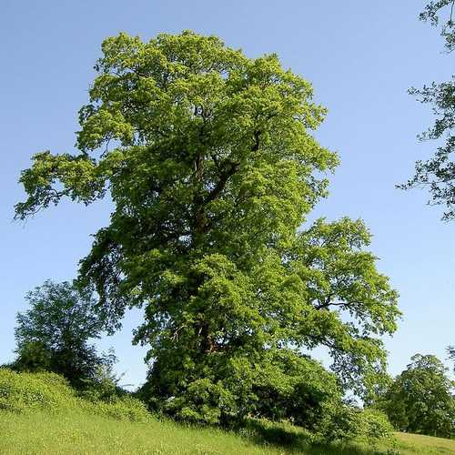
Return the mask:
{"type": "Polygon", "coordinates": [[[455,441],[398,433],[375,446],[357,440],[314,447],[308,433],[290,425],[251,421],[239,433],[186,427],[158,420],[128,396],[83,399],[54,374],[0,369],[0,453],[455,454],[455,441]]]}

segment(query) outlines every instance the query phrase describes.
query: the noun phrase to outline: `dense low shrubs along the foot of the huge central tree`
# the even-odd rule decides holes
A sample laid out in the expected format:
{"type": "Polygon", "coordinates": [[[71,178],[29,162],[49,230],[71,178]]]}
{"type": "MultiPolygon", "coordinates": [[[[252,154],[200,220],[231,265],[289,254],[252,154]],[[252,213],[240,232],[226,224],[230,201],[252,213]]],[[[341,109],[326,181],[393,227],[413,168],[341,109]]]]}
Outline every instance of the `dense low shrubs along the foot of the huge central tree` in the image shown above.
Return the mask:
{"type": "Polygon", "coordinates": [[[155,366],[137,396],[150,410],[191,423],[231,427],[249,416],[289,420],[307,430],[316,428],[326,409],[341,401],[336,376],[296,351],[269,349],[254,368],[251,365],[244,357],[229,359],[219,376],[207,369],[182,379],[183,386],[173,385],[175,378],[164,380],[155,374],[155,366]]]}

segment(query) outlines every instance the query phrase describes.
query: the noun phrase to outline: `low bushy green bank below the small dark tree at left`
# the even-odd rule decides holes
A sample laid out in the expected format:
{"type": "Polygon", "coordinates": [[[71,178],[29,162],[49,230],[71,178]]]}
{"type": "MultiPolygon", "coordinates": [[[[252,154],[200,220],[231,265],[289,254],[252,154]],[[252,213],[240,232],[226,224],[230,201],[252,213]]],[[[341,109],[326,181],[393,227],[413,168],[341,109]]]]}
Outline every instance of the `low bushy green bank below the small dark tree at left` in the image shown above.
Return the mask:
{"type": "Polygon", "coordinates": [[[110,396],[109,399],[84,399],[56,373],[16,373],[0,369],[0,410],[66,413],[86,412],[118,420],[147,421],[144,404],[130,396],[110,396]]]}

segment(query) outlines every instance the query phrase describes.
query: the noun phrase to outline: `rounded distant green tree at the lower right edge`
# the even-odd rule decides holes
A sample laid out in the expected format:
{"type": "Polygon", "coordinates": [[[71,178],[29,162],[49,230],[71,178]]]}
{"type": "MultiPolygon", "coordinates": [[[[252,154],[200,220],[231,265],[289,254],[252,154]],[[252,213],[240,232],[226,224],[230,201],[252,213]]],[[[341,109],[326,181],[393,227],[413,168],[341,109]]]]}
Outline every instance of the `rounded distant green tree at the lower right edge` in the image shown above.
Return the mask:
{"type": "Polygon", "coordinates": [[[455,383],[435,356],[416,354],[379,399],[397,430],[450,438],[455,423],[455,383]]]}

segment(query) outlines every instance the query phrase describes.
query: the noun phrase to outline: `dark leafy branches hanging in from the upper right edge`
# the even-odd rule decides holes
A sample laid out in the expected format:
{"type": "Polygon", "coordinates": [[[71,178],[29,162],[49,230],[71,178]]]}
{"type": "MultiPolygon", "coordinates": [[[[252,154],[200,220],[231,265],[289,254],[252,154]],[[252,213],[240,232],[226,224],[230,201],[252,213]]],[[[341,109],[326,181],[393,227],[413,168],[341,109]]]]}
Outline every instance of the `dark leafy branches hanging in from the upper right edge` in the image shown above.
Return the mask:
{"type": "MultiPolygon", "coordinates": [[[[420,20],[431,25],[441,25],[440,34],[445,40],[445,49],[450,53],[455,48],[455,22],[453,21],[453,0],[432,1],[420,14],[420,20]]],[[[420,135],[420,140],[444,139],[433,157],[417,161],[415,176],[399,187],[428,187],[430,204],[445,205],[443,219],[455,217],[455,76],[450,81],[411,88],[410,94],[418,96],[420,102],[432,105],[437,117],[433,126],[420,135]]]]}

